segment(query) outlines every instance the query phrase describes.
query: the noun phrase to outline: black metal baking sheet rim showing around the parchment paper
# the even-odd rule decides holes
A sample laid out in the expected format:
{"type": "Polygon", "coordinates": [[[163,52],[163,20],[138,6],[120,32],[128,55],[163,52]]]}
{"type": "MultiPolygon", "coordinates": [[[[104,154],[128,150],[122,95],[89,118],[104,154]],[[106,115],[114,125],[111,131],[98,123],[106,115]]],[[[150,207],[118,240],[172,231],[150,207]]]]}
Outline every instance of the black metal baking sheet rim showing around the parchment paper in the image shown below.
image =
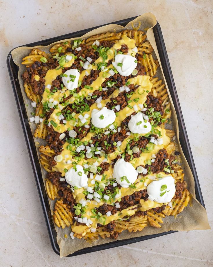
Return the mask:
{"type": "MultiPolygon", "coordinates": [[[[108,24],[119,24],[119,25],[125,26],[128,22],[132,21],[136,17],[123,19],[123,20],[111,22],[108,24]]],[[[104,24],[104,25],[107,25],[107,24],[104,24]]],[[[101,25],[101,26],[104,26],[104,25],[101,25]]],[[[51,43],[58,42],[58,41],[63,40],[63,39],[69,39],[69,38],[73,38],[73,37],[82,36],[85,33],[88,33],[89,31],[96,29],[98,27],[101,27],[101,26],[96,26],[93,28],[80,30],[80,31],[77,31],[74,33],[68,33],[65,35],[53,37],[53,38],[46,39],[43,41],[34,42],[31,44],[26,44],[24,46],[38,46],[38,45],[47,46],[51,43]]],[[[194,176],[196,198],[201,203],[201,205],[203,205],[203,207],[205,208],[205,205],[203,202],[203,196],[201,193],[201,188],[200,188],[199,181],[198,181],[196,168],[194,165],[194,160],[192,157],[192,151],[190,148],[190,144],[189,144],[189,140],[188,140],[188,136],[187,136],[187,132],[186,132],[186,127],[185,127],[185,124],[183,121],[183,115],[181,112],[181,107],[180,107],[180,103],[179,103],[178,96],[177,96],[175,82],[174,82],[174,79],[172,76],[172,71],[170,68],[168,55],[167,55],[166,47],[164,44],[163,35],[162,35],[161,28],[160,28],[160,25],[158,22],[157,22],[156,26],[153,28],[153,32],[155,35],[155,41],[157,44],[157,49],[158,49],[159,57],[161,60],[162,68],[164,70],[166,82],[168,84],[168,88],[169,88],[170,94],[172,96],[172,101],[173,101],[173,104],[174,104],[174,107],[175,107],[175,110],[177,113],[178,124],[179,124],[180,144],[181,144],[181,147],[183,149],[183,153],[186,157],[186,160],[188,161],[188,164],[191,168],[192,174],[194,176]]],[[[44,212],[45,221],[47,224],[47,230],[49,233],[49,238],[50,238],[51,245],[52,245],[54,252],[56,252],[58,255],[60,255],[59,246],[56,242],[57,233],[56,233],[56,230],[54,227],[52,214],[51,214],[51,210],[50,210],[50,206],[49,206],[49,201],[48,201],[47,193],[45,190],[45,185],[43,183],[43,178],[41,175],[41,166],[39,164],[39,159],[38,159],[37,152],[36,152],[34,137],[33,137],[32,131],[31,131],[30,126],[29,126],[27,112],[25,110],[25,104],[24,104],[23,97],[21,94],[21,88],[20,88],[20,84],[19,84],[19,80],[18,80],[19,67],[16,64],[14,64],[11,52],[8,54],[8,57],[7,57],[7,66],[8,66],[8,71],[10,74],[10,80],[12,83],[13,92],[15,95],[16,104],[17,104],[18,111],[19,111],[19,116],[21,119],[21,125],[23,128],[25,140],[27,143],[27,149],[28,149],[28,152],[30,155],[30,160],[31,160],[32,169],[33,169],[35,180],[36,180],[38,194],[39,194],[39,197],[41,200],[41,205],[42,205],[42,209],[44,212]]],[[[165,234],[171,234],[174,232],[177,232],[177,231],[169,231],[169,232],[164,232],[164,233],[160,233],[160,234],[152,234],[152,235],[147,235],[147,236],[142,236],[142,237],[134,237],[134,238],[124,239],[124,240],[117,240],[117,241],[113,241],[113,242],[110,242],[107,244],[102,244],[102,245],[93,246],[93,247],[78,250],[78,251],[68,255],[67,257],[81,255],[81,254],[85,254],[85,253],[89,253],[89,252],[93,252],[93,251],[98,251],[98,250],[104,250],[107,248],[114,248],[117,246],[123,246],[123,245],[131,244],[131,243],[136,243],[139,241],[151,239],[154,237],[159,237],[159,236],[162,236],[165,234]]]]}

